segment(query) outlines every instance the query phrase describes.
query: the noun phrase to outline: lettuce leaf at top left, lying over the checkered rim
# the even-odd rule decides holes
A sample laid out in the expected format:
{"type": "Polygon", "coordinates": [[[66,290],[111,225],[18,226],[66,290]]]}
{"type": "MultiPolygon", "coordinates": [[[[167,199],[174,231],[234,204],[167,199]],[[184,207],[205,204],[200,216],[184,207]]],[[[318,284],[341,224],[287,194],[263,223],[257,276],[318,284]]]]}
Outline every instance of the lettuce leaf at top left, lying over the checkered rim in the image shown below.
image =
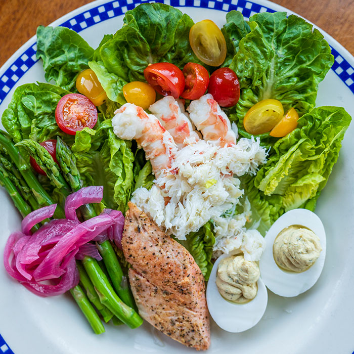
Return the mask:
{"type": "Polygon", "coordinates": [[[70,90],[79,72],[88,68],[94,50],[69,28],[39,26],[36,55],[43,60],[46,80],[70,90]]]}

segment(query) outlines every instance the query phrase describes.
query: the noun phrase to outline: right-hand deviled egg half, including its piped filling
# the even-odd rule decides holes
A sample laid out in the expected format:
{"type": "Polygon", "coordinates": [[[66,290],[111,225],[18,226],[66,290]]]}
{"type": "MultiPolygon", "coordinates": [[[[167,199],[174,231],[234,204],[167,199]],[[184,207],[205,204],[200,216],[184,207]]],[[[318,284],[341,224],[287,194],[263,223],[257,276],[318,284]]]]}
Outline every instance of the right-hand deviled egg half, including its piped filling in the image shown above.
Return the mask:
{"type": "Polygon", "coordinates": [[[259,270],[268,289],[293,297],[317,282],[325,256],[326,233],[321,219],[307,209],[294,209],[280,216],[265,235],[259,270]]]}

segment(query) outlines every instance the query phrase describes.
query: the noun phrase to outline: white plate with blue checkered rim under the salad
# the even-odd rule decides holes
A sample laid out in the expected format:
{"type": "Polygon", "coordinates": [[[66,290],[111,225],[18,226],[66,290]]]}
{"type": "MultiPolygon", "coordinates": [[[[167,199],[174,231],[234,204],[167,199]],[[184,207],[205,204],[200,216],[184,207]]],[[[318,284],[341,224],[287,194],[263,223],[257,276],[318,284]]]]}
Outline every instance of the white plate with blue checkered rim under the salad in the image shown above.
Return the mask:
{"type": "MultiPolygon", "coordinates": [[[[209,18],[219,26],[224,24],[226,11],[230,10],[240,10],[244,16],[267,10],[287,11],[264,0],[164,2],[180,6],[195,21],[209,18]]],[[[65,24],[73,28],[95,48],[104,34],[120,28],[122,12],[139,3],[139,0],[98,0],[67,14],[54,25],[65,24]]],[[[333,49],[335,63],[320,84],[317,105],[343,106],[354,116],[354,58],[332,37],[323,34],[333,49]]],[[[0,115],[8,106],[16,86],[44,81],[41,63],[34,63],[34,54],[35,38],[32,38],[0,69],[0,115]]],[[[269,292],[269,304],[262,320],[244,333],[227,333],[212,324],[209,352],[350,354],[354,350],[353,125],[346,132],[338,162],[316,209],[325,226],[328,242],[327,259],[319,281],[296,298],[282,298],[269,292]]],[[[4,189],[0,189],[0,199],[2,253],[10,233],[20,228],[20,217],[4,189]]],[[[11,280],[2,264],[0,284],[0,353],[193,351],[153,330],[147,323],[135,330],[126,326],[106,326],[106,333],[97,336],[69,296],[37,297],[11,280]]]]}

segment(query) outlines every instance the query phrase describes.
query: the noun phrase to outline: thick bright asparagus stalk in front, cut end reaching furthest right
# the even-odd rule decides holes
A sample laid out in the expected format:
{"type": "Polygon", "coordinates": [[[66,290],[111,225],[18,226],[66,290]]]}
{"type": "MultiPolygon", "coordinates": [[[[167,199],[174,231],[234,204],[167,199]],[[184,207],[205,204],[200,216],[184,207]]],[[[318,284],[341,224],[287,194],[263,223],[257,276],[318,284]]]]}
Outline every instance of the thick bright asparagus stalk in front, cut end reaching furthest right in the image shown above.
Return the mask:
{"type": "Polygon", "coordinates": [[[92,257],[84,257],[82,264],[94,284],[101,302],[130,328],[139,327],[143,323],[143,319],[118,297],[97,260],[92,257]]]}

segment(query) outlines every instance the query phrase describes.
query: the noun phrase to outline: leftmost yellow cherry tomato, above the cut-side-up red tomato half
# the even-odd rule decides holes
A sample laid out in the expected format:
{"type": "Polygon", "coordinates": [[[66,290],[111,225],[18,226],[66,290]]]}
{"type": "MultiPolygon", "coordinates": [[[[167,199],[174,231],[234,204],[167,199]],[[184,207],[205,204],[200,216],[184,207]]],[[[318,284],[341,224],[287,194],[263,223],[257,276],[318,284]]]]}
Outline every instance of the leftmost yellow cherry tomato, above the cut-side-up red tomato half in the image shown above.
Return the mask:
{"type": "Polygon", "coordinates": [[[107,100],[107,95],[92,69],[79,73],[76,79],[76,89],[90,99],[95,106],[101,106],[107,100]]]}

